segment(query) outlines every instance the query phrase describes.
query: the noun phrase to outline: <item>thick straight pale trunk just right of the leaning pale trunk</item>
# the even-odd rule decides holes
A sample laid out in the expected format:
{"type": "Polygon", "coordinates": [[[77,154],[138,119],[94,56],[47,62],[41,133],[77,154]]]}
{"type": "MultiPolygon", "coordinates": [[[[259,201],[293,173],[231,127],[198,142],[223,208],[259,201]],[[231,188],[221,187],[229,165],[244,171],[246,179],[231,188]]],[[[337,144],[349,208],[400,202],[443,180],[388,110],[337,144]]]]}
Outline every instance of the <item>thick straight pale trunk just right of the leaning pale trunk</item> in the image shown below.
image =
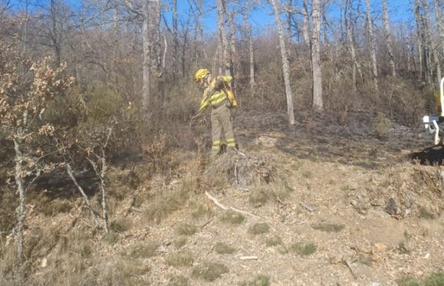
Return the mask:
{"type": "Polygon", "coordinates": [[[312,36],[312,74],[313,74],[313,109],[321,111],[322,102],[322,72],[321,72],[321,11],[319,0],[312,1],[313,36],[312,36]]]}

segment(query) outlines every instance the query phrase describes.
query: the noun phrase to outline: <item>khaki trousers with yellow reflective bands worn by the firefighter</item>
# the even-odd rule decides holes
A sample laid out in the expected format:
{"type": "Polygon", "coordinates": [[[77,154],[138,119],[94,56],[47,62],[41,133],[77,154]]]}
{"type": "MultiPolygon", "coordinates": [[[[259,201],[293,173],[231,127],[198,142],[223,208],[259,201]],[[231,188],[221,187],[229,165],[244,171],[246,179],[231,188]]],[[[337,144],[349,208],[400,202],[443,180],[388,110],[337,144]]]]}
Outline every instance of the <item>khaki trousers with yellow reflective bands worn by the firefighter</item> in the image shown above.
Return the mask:
{"type": "Polygon", "coordinates": [[[235,148],[236,141],[233,131],[233,122],[231,121],[231,112],[228,100],[226,104],[211,110],[211,136],[213,137],[212,154],[218,154],[221,151],[221,145],[226,144],[228,148],[235,148]]]}

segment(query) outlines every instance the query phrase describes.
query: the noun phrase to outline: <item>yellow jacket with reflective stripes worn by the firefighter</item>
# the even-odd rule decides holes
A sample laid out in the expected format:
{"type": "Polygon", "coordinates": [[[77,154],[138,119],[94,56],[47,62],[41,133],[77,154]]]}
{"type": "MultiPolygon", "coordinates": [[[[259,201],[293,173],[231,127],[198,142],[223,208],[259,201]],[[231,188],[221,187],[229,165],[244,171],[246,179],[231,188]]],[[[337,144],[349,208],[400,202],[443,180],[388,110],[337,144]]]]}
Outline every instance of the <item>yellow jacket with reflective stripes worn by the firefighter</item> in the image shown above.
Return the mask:
{"type": "Polygon", "coordinates": [[[235,108],[237,103],[233,91],[231,91],[228,85],[232,80],[233,77],[229,75],[221,75],[211,79],[211,82],[204,90],[198,113],[204,112],[209,105],[212,108],[218,108],[224,105],[226,100],[229,100],[231,107],[235,108]]]}

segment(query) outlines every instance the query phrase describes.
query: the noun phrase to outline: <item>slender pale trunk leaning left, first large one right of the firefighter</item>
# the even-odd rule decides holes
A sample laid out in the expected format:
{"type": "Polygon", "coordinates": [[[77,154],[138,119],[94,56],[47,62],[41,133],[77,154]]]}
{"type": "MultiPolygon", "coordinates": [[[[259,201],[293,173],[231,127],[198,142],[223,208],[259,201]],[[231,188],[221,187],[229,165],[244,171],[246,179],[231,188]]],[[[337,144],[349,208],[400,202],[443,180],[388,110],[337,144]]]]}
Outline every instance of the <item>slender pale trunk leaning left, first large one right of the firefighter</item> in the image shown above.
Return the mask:
{"type": "Polygon", "coordinates": [[[276,19],[276,26],[278,27],[280,57],[282,58],[282,70],[285,84],[285,94],[287,96],[287,117],[289,124],[295,124],[295,113],[293,111],[293,95],[290,86],[290,64],[287,58],[287,48],[285,48],[285,39],[282,31],[282,22],[280,20],[280,10],[276,0],[270,0],[273,6],[274,18],[276,19]]]}

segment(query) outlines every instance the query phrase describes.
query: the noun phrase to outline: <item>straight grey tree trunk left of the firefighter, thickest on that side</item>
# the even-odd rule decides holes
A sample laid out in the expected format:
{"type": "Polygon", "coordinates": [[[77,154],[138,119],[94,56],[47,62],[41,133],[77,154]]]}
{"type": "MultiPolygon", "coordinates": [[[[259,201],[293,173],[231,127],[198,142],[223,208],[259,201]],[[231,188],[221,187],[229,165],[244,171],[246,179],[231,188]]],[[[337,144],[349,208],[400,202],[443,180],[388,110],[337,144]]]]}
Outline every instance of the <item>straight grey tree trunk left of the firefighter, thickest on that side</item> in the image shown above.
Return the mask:
{"type": "Polygon", "coordinates": [[[143,1],[143,13],[144,18],[142,22],[142,52],[143,52],[143,65],[142,65],[142,112],[147,112],[148,107],[151,103],[151,93],[150,93],[150,64],[151,64],[151,42],[149,38],[149,0],[143,1]]]}

